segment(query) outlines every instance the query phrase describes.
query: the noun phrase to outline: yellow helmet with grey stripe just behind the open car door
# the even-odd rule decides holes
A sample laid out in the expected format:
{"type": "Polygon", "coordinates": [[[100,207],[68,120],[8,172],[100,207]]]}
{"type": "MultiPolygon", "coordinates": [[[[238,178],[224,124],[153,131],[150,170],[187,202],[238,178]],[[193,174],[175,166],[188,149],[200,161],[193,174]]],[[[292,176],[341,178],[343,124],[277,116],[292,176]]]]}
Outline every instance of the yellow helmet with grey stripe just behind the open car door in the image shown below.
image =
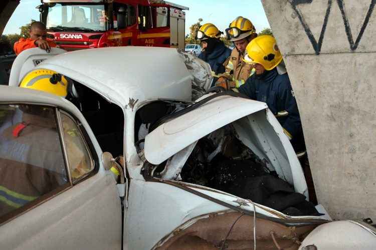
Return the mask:
{"type": "Polygon", "coordinates": [[[62,97],[66,97],[68,94],[68,80],[53,70],[43,68],[27,73],[22,79],[20,87],[37,89],[62,97]]]}

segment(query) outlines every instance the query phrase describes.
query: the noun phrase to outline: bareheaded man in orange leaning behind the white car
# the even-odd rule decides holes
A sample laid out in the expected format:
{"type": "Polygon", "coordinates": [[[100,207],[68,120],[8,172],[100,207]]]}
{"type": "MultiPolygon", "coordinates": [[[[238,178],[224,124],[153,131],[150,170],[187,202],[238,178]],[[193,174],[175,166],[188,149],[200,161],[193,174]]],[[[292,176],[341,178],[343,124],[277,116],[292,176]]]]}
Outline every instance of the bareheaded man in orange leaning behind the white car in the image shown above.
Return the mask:
{"type": "Polygon", "coordinates": [[[20,54],[22,51],[28,48],[39,47],[46,51],[49,51],[51,47],[59,47],[55,42],[46,40],[47,28],[43,22],[34,21],[30,25],[30,38],[20,38],[15,42],[14,50],[16,54],[20,54]]]}

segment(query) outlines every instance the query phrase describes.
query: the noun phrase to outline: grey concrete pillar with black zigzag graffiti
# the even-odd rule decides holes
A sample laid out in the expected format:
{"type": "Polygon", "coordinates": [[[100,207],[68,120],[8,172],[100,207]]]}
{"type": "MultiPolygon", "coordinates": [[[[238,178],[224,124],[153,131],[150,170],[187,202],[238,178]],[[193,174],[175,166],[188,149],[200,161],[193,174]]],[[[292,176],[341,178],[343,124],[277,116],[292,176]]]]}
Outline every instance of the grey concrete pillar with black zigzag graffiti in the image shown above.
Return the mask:
{"type": "Polygon", "coordinates": [[[318,200],[376,221],[376,0],[262,0],[297,98],[318,200]]]}

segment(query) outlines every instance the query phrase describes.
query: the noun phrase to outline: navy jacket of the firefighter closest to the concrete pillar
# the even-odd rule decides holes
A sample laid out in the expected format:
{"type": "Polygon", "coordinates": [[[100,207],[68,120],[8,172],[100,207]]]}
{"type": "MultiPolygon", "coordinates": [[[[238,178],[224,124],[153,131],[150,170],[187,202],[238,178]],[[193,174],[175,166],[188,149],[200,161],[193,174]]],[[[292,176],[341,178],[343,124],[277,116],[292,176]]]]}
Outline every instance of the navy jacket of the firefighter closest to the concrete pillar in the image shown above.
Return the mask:
{"type": "Polygon", "coordinates": [[[253,74],[238,89],[251,99],[266,102],[290,137],[295,152],[305,152],[298,106],[287,73],[278,74],[277,68],[273,68],[262,75],[253,74]]]}

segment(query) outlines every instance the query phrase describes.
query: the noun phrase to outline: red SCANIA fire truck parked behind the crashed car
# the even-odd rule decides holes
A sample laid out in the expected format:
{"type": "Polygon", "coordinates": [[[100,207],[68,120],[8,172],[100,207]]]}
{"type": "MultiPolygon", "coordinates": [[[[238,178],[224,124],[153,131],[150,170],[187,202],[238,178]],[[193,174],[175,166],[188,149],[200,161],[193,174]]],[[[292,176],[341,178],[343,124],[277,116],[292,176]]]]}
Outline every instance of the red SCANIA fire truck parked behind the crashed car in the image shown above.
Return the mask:
{"type": "Polygon", "coordinates": [[[41,0],[48,37],[66,50],[107,46],[184,48],[185,12],[164,0],[41,0]]]}

